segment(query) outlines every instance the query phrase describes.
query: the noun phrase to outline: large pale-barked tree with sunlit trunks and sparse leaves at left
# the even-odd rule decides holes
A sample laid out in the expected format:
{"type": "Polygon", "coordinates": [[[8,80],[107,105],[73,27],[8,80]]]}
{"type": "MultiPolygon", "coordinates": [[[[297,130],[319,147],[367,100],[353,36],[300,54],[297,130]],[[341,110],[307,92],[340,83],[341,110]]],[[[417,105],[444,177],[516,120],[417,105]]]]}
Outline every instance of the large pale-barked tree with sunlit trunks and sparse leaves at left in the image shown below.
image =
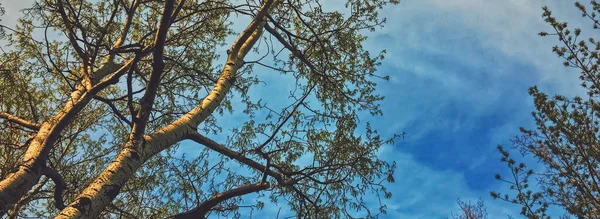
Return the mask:
{"type": "Polygon", "coordinates": [[[358,128],[360,112],[381,114],[375,80],[386,79],[375,74],[383,52],[362,42],[397,3],[36,2],[1,26],[0,214],[239,217],[264,206],[240,204],[254,192],[299,218],[384,213],[362,197],[391,196],[394,164],[376,152],[396,136],[358,128]],[[237,34],[236,16],[247,22],[237,34]],[[295,81],[289,105],[250,95],[265,76],[256,69],[295,81]],[[245,117],[223,131],[233,112],[245,117]],[[177,155],[185,140],[204,147],[177,155]]]}

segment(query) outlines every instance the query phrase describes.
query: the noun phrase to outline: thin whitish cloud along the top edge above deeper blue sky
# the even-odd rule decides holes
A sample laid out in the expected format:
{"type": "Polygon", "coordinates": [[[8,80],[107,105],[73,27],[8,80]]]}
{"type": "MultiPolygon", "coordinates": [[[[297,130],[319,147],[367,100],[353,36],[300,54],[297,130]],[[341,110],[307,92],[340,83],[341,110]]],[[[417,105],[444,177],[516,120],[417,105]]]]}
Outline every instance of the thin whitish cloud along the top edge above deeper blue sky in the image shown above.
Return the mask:
{"type": "MultiPolygon", "coordinates": [[[[539,70],[541,82],[557,85],[557,91],[561,93],[573,92],[574,85],[578,84],[577,75],[562,67],[562,61],[551,52],[558,41],[553,37],[537,36],[540,31],[551,30],[541,17],[544,5],[554,10],[559,19],[566,19],[576,26],[591,27],[589,22],[578,18],[577,9],[568,1],[405,0],[400,6],[384,10],[383,15],[388,17],[387,26],[375,35],[387,34],[399,45],[391,51],[391,56],[414,49],[439,55],[460,55],[462,61],[470,65],[502,65],[477,63],[480,61],[477,54],[461,54],[460,51],[468,48],[461,48],[459,46],[464,44],[457,45],[456,42],[468,40],[473,46],[532,64],[539,70]]],[[[402,60],[403,57],[391,59],[402,60]]],[[[447,78],[441,76],[436,78],[447,78]]]]}

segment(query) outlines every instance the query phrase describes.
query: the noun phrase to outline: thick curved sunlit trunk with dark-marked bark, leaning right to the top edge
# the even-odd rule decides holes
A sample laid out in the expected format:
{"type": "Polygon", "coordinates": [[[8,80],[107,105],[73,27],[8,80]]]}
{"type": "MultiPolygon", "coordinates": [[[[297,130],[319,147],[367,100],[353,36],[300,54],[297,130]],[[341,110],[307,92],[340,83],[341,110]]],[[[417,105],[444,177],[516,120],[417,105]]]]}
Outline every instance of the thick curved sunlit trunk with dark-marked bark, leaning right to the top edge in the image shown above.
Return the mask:
{"type": "MultiPolygon", "coordinates": [[[[268,10],[269,8],[271,7],[263,5],[261,10],[268,10]]],[[[167,16],[167,14],[163,15],[167,16]]],[[[144,136],[143,132],[137,130],[139,134],[136,133],[135,135],[140,135],[143,139],[128,141],[114,161],[81,192],[75,201],[63,209],[57,218],[97,217],[119,194],[122,186],[145,161],[183,140],[187,133],[195,132],[197,126],[214,112],[227,95],[237,70],[244,64],[245,55],[260,38],[264,23],[264,19],[259,22],[259,25],[251,30],[250,36],[238,37],[238,41],[244,39],[239,52],[229,54],[217,84],[200,104],[178,120],[150,135],[144,136]]],[[[135,140],[135,138],[130,140],[135,140]]],[[[281,177],[279,178],[281,179],[281,177]]]]}

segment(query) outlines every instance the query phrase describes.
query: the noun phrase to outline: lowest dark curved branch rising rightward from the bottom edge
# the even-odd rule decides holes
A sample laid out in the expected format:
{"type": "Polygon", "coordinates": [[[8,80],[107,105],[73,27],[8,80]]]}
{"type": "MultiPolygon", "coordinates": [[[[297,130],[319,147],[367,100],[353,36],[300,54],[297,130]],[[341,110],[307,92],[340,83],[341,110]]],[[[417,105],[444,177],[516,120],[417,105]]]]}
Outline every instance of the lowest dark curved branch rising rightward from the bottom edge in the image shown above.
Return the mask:
{"type": "Polygon", "coordinates": [[[253,193],[253,192],[258,192],[258,191],[265,190],[268,188],[269,188],[268,182],[250,184],[250,185],[242,186],[239,188],[235,188],[235,189],[223,192],[221,194],[215,195],[212,198],[206,200],[205,202],[202,202],[200,205],[198,205],[198,207],[196,207],[190,211],[175,215],[171,218],[173,218],[173,219],[206,218],[206,214],[213,207],[217,206],[219,203],[221,203],[227,199],[246,195],[246,194],[253,193]]]}

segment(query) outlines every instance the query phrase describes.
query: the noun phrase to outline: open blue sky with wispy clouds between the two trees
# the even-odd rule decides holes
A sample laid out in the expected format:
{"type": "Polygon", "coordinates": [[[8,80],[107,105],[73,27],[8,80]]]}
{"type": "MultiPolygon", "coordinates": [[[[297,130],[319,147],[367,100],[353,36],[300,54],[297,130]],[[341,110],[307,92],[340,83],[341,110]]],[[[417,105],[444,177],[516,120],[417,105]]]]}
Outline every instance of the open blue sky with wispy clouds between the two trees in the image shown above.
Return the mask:
{"type": "MultiPolygon", "coordinates": [[[[338,2],[323,4],[338,7],[338,2]]],[[[589,29],[573,3],[402,0],[383,11],[388,23],[369,33],[366,47],[387,50],[379,74],[391,79],[378,90],[386,96],[384,115],[369,120],[384,135],[406,132],[405,139],[381,151],[398,167],[383,218],[444,218],[458,211],[458,198],[480,197],[490,218],[518,216],[517,206],[489,196],[507,189],[493,179],[506,172],[495,147],[509,146],[519,127],[533,128],[530,86],[551,94],[581,93],[577,72],[563,67],[551,52],[557,40],[536,35],[550,30],[541,17],[544,5],[559,19],[589,29]]],[[[18,3],[3,4],[3,22],[10,23],[18,3]]],[[[252,92],[285,90],[266,86],[252,92]]],[[[236,117],[223,119],[233,124],[236,117]]],[[[267,206],[261,215],[274,218],[278,209],[267,206]]]]}

